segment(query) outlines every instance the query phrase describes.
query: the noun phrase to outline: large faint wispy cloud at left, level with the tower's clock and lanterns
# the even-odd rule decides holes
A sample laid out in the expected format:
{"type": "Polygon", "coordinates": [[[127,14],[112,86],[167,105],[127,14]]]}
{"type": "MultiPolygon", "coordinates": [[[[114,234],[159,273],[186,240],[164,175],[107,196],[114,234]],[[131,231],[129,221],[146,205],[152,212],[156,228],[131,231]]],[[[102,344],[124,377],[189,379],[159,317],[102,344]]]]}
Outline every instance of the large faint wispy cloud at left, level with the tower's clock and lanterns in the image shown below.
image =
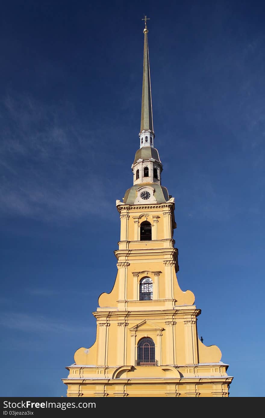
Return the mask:
{"type": "Polygon", "coordinates": [[[9,95],[0,110],[2,213],[49,220],[105,212],[110,185],[98,172],[94,145],[105,132],[87,129],[70,104],[9,95]]]}

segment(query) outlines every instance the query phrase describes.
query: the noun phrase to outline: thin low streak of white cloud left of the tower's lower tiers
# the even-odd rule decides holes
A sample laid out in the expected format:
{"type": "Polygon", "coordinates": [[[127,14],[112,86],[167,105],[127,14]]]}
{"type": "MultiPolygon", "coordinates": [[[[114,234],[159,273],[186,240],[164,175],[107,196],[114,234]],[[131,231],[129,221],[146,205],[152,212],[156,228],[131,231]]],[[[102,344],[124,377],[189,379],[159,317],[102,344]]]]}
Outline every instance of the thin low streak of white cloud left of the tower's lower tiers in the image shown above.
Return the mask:
{"type": "Polygon", "coordinates": [[[71,324],[45,316],[31,316],[24,313],[2,312],[0,326],[23,332],[87,332],[87,327],[71,324]]]}

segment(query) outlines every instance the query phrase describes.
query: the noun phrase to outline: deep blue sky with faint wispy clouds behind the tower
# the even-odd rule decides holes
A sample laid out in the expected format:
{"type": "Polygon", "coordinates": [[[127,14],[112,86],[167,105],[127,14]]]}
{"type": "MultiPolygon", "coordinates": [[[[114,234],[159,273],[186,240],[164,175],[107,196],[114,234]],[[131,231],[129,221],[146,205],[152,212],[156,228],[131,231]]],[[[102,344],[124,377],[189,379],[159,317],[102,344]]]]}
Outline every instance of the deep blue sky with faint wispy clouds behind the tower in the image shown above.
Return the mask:
{"type": "Polygon", "coordinates": [[[204,344],[230,364],[230,396],[264,396],[263,7],[2,5],[2,396],[65,396],[64,367],[95,341],[91,312],[116,278],[115,203],[139,148],[144,13],[178,281],[204,344]]]}

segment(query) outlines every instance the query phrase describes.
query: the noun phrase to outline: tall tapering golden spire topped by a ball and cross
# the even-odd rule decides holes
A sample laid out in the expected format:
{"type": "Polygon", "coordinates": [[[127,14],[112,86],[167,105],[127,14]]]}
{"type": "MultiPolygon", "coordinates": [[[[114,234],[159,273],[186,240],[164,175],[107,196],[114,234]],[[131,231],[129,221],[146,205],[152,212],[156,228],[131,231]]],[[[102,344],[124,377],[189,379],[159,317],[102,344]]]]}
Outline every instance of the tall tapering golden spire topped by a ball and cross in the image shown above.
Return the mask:
{"type": "Polygon", "coordinates": [[[149,51],[147,40],[147,18],[144,16],[144,71],[143,71],[143,92],[142,92],[142,114],[141,114],[141,129],[142,131],[151,131],[153,133],[153,115],[152,115],[152,99],[151,99],[151,82],[149,69],[149,51]]]}

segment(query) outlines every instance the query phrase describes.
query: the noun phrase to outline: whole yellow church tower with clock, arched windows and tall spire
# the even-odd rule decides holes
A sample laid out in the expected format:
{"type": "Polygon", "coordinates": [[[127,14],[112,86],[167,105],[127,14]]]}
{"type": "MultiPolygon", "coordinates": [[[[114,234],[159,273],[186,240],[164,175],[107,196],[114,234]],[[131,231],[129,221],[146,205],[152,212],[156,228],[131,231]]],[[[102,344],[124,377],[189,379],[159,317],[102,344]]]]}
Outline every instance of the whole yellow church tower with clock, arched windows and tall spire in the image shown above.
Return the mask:
{"type": "Polygon", "coordinates": [[[218,347],[198,339],[201,310],[176,277],[175,203],[161,186],[154,148],[147,33],[145,17],[140,148],[131,166],[134,184],[116,201],[118,273],[93,313],[95,343],[75,352],[63,382],[69,397],[228,397],[228,364],[218,347]]]}

